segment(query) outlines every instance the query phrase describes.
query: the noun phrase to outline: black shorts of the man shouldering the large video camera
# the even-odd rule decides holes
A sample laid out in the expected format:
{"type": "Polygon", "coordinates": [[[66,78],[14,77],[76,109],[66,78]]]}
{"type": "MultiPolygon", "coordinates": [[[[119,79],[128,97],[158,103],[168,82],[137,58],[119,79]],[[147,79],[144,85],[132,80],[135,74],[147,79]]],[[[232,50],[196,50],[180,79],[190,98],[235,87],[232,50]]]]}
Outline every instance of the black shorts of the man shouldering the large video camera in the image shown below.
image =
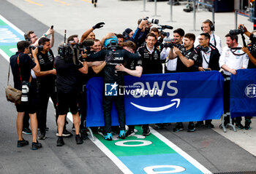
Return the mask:
{"type": "Polygon", "coordinates": [[[79,92],[61,92],[58,91],[58,110],[59,115],[65,115],[69,111],[72,114],[78,113],[78,95],[79,92]]]}

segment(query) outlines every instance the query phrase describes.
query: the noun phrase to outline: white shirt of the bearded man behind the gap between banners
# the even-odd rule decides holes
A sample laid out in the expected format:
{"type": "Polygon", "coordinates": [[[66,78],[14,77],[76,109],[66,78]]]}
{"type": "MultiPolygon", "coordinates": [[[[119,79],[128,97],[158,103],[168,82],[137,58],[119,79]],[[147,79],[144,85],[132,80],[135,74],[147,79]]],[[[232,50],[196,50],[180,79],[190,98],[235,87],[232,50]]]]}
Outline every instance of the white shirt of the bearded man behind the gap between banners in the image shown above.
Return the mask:
{"type": "MultiPolygon", "coordinates": [[[[238,47],[242,47],[238,44],[238,47]]],[[[241,55],[244,52],[242,50],[231,50],[229,47],[225,46],[222,50],[222,55],[219,57],[219,67],[222,68],[223,65],[228,66],[233,69],[247,68],[249,56],[247,54],[241,55]],[[233,52],[237,55],[234,55],[233,52]]],[[[224,74],[230,76],[231,73],[224,70],[224,74]]]]}

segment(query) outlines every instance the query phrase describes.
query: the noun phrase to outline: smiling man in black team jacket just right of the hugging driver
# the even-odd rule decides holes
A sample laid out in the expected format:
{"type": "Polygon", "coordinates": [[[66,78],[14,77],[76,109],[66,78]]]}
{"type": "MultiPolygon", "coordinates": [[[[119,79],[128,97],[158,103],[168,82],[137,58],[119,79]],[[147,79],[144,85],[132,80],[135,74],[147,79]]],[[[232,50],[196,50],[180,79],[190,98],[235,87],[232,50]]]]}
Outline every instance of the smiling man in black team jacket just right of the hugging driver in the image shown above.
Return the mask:
{"type": "MultiPolygon", "coordinates": [[[[154,45],[157,43],[157,36],[154,33],[148,33],[146,44],[138,48],[142,58],[143,74],[162,74],[162,61],[160,52],[154,45]]],[[[148,124],[143,124],[143,135],[149,135],[148,124]]]]}

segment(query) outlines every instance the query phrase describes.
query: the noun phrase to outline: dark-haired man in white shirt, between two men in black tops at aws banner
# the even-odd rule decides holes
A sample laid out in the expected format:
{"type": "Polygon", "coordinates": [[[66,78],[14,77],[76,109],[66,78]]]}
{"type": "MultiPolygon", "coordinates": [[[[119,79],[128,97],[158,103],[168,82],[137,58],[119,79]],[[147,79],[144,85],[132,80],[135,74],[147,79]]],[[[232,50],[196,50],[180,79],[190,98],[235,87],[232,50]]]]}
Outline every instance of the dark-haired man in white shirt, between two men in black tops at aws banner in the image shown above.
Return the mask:
{"type": "MultiPolygon", "coordinates": [[[[181,28],[177,28],[176,30],[173,31],[173,41],[178,48],[181,47],[181,45],[183,44],[182,40],[184,38],[184,34],[185,34],[185,31],[181,28]]],[[[160,56],[161,56],[161,60],[164,60],[167,58],[167,62],[165,63],[165,73],[176,73],[178,58],[174,58],[172,60],[169,59],[170,47],[168,47],[169,46],[168,44],[172,44],[170,42],[171,41],[166,41],[160,56]]]]}

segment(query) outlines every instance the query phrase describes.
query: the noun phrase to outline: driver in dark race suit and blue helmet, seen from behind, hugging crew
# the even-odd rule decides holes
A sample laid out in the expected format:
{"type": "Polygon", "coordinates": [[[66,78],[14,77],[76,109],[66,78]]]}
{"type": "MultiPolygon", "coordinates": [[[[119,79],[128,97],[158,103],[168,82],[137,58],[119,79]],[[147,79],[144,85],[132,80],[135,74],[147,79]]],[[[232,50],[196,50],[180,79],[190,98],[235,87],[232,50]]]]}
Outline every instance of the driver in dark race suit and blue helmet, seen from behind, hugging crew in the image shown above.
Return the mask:
{"type": "MultiPolygon", "coordinates": [[[[112,84],[114,87],[118,88],[120,86],[124,86],[124,72],[117,71],[116,66],[119,64],[123,64],[125,60],[131,59],[140,59],[140,55],[132,54],[127,50],[118,47],[118,39],[111,33],[112,37],[110,39],[105,40],[106,50],[101,50],[95,54],[91,54],[88,56],[86,60],[94,61],[94,60],[105,60],[105,67],[103,68],[104,73],[104,84],[112,84]]],[[[108,33],[108,35],[111,35],[108,33]]],[[[105,89],[106,90],[106,89],[105,89]]],[[[117,90],[118,91],[118,90],[117,90]]],[[[103,96],[103,110],[104,110],[104,119],[105,119],[105,140],[112,141],[112,130],[111,130],[111,108],[112,101],[114,100],[116,109],[118,111],[118,121],[120,124],[120,133],[118,138],[125,138],[125,112],[124,112],[124,95],[117,94],[116,96],[103,96]]]]}

